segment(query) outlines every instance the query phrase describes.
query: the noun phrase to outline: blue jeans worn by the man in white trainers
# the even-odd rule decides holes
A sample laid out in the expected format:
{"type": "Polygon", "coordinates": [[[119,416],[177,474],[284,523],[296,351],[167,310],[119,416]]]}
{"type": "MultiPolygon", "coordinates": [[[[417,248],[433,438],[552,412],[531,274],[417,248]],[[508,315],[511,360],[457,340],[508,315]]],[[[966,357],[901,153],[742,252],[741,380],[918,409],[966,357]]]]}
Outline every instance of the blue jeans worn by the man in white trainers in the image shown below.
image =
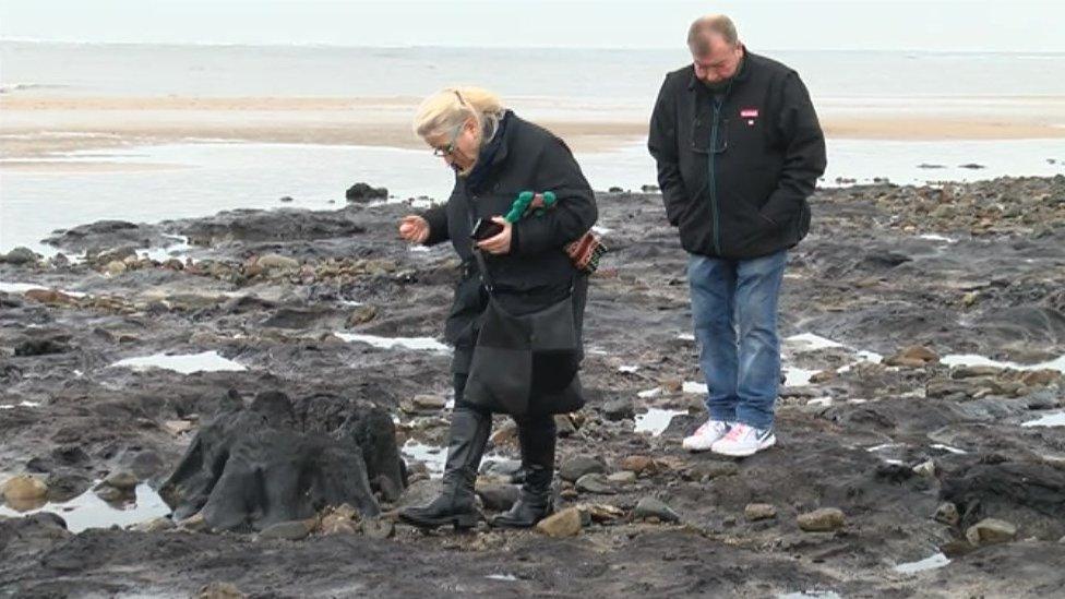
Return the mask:
{"type": "Polygon", "coordinates": [[[788,252],[753,260],[690,254],[692,321],[714,420],[773,427],[780,387],[777,300],[788,252]]]}

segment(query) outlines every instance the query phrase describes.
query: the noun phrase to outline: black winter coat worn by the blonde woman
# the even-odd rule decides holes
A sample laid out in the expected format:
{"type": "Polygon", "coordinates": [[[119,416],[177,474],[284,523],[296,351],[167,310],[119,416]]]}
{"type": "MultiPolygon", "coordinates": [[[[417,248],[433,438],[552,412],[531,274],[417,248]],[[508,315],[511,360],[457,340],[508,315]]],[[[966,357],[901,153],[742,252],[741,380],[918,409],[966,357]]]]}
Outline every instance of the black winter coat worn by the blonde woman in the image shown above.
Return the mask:
{"type": "Polygon", "coordinates": [[[422,214],[429,223],[426,244],[450,239],[463,260],[444,332],[455,347],[452,371],[456,373],[469,371],[477,322],[488,307],[469,237],[474,221],[505,215],[522,191],[553,191],[558,203],[541,216],[514,224],[510,253],[483,254],[496,299],[506,310],[522,314],[554,303],[572,287],[578,334],[584,320],[588,280],[573,267],[563,247],[596,223],[591,187],[570,148],[548,130],[507,111],[496,135],[501,135],[499,149],[472,189],[467,178],[456,176],[447,203],[422,214]]]}

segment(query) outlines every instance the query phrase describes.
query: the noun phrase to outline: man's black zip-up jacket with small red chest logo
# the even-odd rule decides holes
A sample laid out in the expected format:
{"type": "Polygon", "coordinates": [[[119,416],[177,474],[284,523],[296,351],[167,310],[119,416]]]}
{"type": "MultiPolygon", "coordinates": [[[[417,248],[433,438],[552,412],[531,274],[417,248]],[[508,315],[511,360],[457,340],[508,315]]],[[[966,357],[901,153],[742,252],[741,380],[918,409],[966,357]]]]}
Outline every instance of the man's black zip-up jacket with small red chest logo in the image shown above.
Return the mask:
{"type": "Polygon", "coordinates": [[[825,171],[825,136],[799,74],[744,53],[720,103],[687,65],[666,76],[651,116],[666,216],[695,254],[742,260],[793,247],[825,171]]]}

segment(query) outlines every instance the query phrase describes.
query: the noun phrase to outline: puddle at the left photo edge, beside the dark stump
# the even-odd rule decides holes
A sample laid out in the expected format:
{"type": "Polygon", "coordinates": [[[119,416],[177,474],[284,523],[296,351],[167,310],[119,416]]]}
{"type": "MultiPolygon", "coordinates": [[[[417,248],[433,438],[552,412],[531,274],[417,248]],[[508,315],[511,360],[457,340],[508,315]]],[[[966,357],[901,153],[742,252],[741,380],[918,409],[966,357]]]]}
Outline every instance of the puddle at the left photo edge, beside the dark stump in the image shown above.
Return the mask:
{"type": "MultiPolygon", "coordinates": [[[[94,484],[95,486],[95,484],[94,484]]],[[[8,505],[0,505],[0,515],[11,517],[28,516],[38,512],[52,512],[67,520],[71,532],[87,528],[108,528],[113,525],[129,526],[170,514],[170,507],[158,493],[147,484],[139,484],[135,500],[119,506],[111,505],[96,496],[92,490],[64,503],[46,503],[40,507],[19,512],[8,505]]]]}

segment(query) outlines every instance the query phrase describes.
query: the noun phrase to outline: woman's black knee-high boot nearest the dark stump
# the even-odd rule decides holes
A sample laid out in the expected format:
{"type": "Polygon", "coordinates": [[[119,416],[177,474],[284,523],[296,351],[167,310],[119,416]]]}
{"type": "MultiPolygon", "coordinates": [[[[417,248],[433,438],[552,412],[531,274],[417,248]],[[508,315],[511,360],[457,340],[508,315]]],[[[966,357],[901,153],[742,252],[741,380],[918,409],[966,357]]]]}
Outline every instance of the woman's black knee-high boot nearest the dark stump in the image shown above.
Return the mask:
{"type": "Polygon", "coordinates": [[[492,428],[492,415],[457,404],[452,414],[444,465],[443,491],[428,505],[399,511],[399,519],[421,528],[452,525],[456,529],[477,526],[480,513],[474,483],[484,445],[492,428]]]}

